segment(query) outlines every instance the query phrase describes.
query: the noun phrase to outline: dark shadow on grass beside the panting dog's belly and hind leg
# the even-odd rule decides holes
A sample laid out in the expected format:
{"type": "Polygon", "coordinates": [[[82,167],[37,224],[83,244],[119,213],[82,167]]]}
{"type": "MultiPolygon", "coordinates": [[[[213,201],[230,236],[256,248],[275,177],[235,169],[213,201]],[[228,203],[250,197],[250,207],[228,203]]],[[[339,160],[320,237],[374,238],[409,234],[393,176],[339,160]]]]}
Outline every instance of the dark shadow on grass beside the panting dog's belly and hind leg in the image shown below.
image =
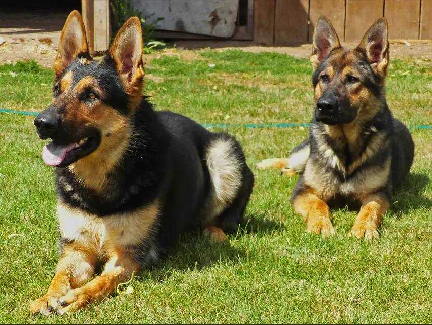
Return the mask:
{"type": "Polygon", "coordinates": [[[247,233],[265,235],[278,231],[283,224],[266,220],[264,216],[247,216],[242,228],[235,234],[230,234],[230,239],[217,243],[197,231],[190,231],[182,236],[177,246],[162,257],[148,271],[143,272],[152,281],[162,281],[181,271],[199,271],[216,264],[237,264],[247,259],[247,251],[236,245],[236,240],[247,233]]]}

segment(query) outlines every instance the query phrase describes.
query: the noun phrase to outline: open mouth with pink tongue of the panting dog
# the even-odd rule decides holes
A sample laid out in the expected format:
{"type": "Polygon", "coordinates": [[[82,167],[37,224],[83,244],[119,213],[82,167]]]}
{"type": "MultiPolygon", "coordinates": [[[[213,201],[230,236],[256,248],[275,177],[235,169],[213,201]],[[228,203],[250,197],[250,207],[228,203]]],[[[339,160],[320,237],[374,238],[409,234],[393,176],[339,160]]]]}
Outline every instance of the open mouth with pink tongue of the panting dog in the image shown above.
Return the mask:
{"type": "Polygon", "coordinates": [[[66,167],[78,159],[90,155],[99,147],[99,137],[87,137],[76,143],[68,145],[55,143],[55,140],[48,143],[42,150],[44,163],[49,166],[66,167]]]}

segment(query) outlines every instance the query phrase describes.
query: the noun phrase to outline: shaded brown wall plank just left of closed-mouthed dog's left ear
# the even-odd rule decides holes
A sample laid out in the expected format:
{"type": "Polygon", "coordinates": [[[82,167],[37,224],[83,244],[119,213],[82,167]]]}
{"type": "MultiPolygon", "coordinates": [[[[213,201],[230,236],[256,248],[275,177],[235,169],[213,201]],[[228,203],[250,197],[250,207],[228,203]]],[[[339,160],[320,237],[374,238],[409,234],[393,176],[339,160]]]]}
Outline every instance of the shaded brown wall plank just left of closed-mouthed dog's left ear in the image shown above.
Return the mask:
{"type": "Polygon", "coordinates": [[[274,44],[307,43],[309,0],[276,0],[274,44]]]}

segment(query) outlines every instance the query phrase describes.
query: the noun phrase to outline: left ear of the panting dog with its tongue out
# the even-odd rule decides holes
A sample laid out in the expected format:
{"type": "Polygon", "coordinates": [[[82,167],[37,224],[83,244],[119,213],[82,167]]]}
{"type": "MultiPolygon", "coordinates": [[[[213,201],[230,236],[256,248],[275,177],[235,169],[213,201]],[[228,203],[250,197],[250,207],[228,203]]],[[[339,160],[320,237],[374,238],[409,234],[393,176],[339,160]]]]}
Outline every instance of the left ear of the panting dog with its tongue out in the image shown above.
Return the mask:
{"type": "Polygon", "coordinates": [[[61,73],[80,53],[88,53],[86,30],[78,11],[74,10],[66,19],[60,36],[57,58],[54,62],[55,75],[61,73]]]}

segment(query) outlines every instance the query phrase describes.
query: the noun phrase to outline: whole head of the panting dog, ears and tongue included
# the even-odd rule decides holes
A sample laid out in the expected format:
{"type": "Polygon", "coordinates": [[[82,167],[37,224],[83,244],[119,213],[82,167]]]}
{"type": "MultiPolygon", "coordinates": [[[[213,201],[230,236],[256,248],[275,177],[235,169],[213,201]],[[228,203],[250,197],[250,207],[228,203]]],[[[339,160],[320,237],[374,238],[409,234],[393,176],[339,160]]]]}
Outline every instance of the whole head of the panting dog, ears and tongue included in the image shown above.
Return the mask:
{"type": "Polygon", "coordinates": [[[141,102],[141,55],[141,26],[135,20],[122,27],[110,54],[98,61],[88,52],[81,16],[68,17],[54,63],[53,103],[34,120],[38,135],[53,140],[43,149],[47,165],[103,159],[124,146],[128,115],[141,102]]]}

